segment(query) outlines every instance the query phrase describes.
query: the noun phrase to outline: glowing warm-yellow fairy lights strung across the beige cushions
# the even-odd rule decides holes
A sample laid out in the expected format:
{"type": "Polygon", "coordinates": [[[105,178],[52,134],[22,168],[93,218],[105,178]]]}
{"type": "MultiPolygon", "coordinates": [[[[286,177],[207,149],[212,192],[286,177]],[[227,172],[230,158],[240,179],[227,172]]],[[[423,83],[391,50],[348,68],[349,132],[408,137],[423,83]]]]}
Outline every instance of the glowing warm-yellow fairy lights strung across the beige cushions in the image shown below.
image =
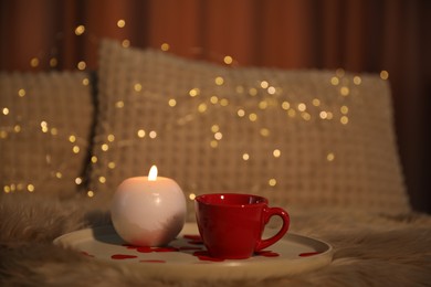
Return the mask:
{"type": "MultiPolygon", "coordinates": [[[[118,29],[124,29],[126,26],[126,20],[125,19],[118,19],[116,21],[116,25],[118,29]]],[[[78,24],[74,28],[73,30],[73,33],[76,35],[76,36],[82,36],[84,35],[85,33],[87,34],[91,34],[90,31],[87,31],[86,26],[84,24],[78,24]]],[[[88,39],[98,39],[94,35],[91,35],[91,38],[88,39]]],[[[91,40],[90,40],[91,41],[91,40]]],[[[120,41],[122,43],[122,46],[127,49],[127,47],[130,47],[133,43],[130,43],[130,41],[128,39],[125,39],[125,40],[122,40],[120,41]]],[[[167,42],[164,42],[160,44],[159,49],[162,51],[162,52],[170,52],[171,51],[171,46],[169,43],[167,42]]],[[[55,49],[51,49],[51,51],[56,51],[55,49]]],[[[219,57],[220,61],[222,63],[224,63],[225,65],[232,65],[232,64],[236,64],[238,62],[231,56],[231,55],[222,55],[219,57]]],[[[41,64],[41,61],[42,59],[41,57],[38,57],[38,56],[34,56],[30,60],[30,66],[31,67],[38,67],[40,64],[41,64]]],[[[56,59],[55,56],[50,56],[48,59],[49,61],[49,65],[50,67],[52,68],[55,68],[59,64],[59,59],[56,59]]],[[[78,71],[86,71],[87,70],[87,63],[86,61],[84,60],[80,60],[77,61],[76,63],[76,70],[78,71]]],[[[349,93],[350,93],[350,89],[348,86],[346,85],[343,85],[341,83],[341,78],[344,77],[345,75],[345,71],[343,68],[338,68],[335,71],[335,75],[329,79],[330,82],[330,85],[333,86],[339,86],[339,94],[344,97],[347,97],[349,96],[349,93]]],[[[380,78],[382,79],[388,79],[389,77],[389,73],[388,71],[381,71],[380,72],[380,78]]],[[[216,85],[223,85],[223,77],[221,76],[218,76],[214,78],[214,84],[216,85]]],[[[353,77],[353,83],[355,85],[360,85],[361,84],[361,77],[360,76],[354,76],[353,77]]],[[[90,79],[88,78],[84,78],[83,79],[83,85],[90,85],[90,79]]],[[[274,86],[272,86],[267,81],[262,81],[260,83],[260,88],[262,89],[265,89],[267,92],[267,94],[272,95],[276,92],[276,88],[274,86]]],[[[141,86],[139,86],[139,84],[135,84],[134,86],[134,89],[136,92],[139,92],[141,89],[141,86]]],[[[17,91],[17,96],[19,97],[24,97],[25,96],[25,89],[23,87],[20,87],[18,91],[17,91]]],[[[190,89],[189,92],[189,95],[190,97],[196,97],[199,93],[199,89],[190,89]]],[[[248,91],[248,93],[253,96],[253,94],[255,95],[256,94],[256,89],[255,88],[251,88],[250,91],[248,91]]],[[[210,99],[210,103],[211,104],[219,104],[221,106],[227,106],[228,103],[227,103],[227,99],[218,99],[216,97],[211,97],[210,99]]],[[[175,98],[170,98],[168,100],[168,105],[171,106],[171,107],[175,107],[177,105],[177,100],[175,98]]],[[[288,103],[287,100],[284,100],[281,103],[281,108],[284,109],[286,111],[286,114],[290,116],[290,117],[295,117],[297,115],[299,115],[304,120],[311,120],[311,114],[308,113],[308,105],[311,106],[314,106],[314,107],[319,107],[320,106],[320,99],[318,98],[314,98],[311,103],[297,103],[297,104],[292,104],[292,103],[288,103]]],[[[265,109],[266,106],[269,105],[267,102],[265,100],[262,100],[259,103],[259,108],[260,109],[265,109]]],[[[116,103],[116,107],[117,108],[122,108],[122,103],[116,103]]],[[[7,107],[7,106],[3,106],[3,107],[0,107],[1,108],[1,114],[0,116],[10,116],[10,108],[7,107]]],[[[207,109],[207,104],[206,105],[199,105],[198,106],[198,110],[199,113],[203,113],[206,109],[207,109]]],[[[339,107],[339,113],[340,113],[340,117],[339,117],[339,123],[341,125],[348,125],[349,123],[349,107],[347,105],[341,105],[339,107]]],[[[239,118],[243,118],[243,117],[248,117],[248,119],[250,121],[255,121],[256,120],[256,117],[257,115],[255,113],[250,113],[250,114],[246,114],[245,110],[243,108],[239,108],[236,110],[236,115],[239,118]]],[[[318,115],[317,115],[318,118],[320,118],[322,120],[333,120],[334,119],[334,113],[333,111],[329,111],[329,110],[320,110],[318,111],[318,115]]],[[[57,136],[57,130],[55,127],[52,127],[51,129],[49,129],[49,125],[46,121],[41,121],[40,123],[40,127],[39,129],[42,130],[42,132],[45,132],[45,134],[51,134],[53,137],[54,136],[57,136]]],[[[22,132],[21,128],[20,127],[12,127],[12,130],[14,132],[22,132]]],[[[213,132],[213,140],[211,140],[210,142],[210,146],[212,148],[217,148],[218,147],[218,142],[223,138],[223,134],[220,131],[220,126],[214,124],[211,126],[211,131],[213,132]]],[[[1,130],[0,130],[0,140],[7,140],[8,139],[8,132],[10,132],[10,127],[1,127],[1,130]]],[[[265,136],[269,134],[269,130],[265,130],[265,129],[261,129],[260,130],[261,135],[262,136],[265,136]]],[[[137,137],[139,138],[144,138],[145,136],[148,136],[150,138],[156,138],[157,137],[157,131],[148,131],[146,132],[144,129],[140,129],[137,131],[137,137]]],[[[87,147],[80,147],[77,140],[76,140],[76,137],[75,135],[69,135],[69,136],[65,136],[64,137],[67,141],[70,141],[71,144],[73,144],[73,152],[74,153],[78,153],[81,152],[84,148],[87,148],[87,147]]],[[[107,138],[107,140],[109,142],[114,141],[115,140],[115,136],[114,135],[109,135],[109,137],[107,138]]],[[[108,144],[104,144],[102,145],[102,149],[107,149],[108,147],[108,144]]],[[[281,153],[282,151],[280,149],[274,149],[273,150],[273,157],[274,158],[278,158],[281,157],[281,153]]],[[[326,155],[326,160],[332,162],[334,161],[336,158],[336,155],[334,151],[329,151],[327,152],[326,155]]],[[[248,152],[244,152],[242,155],[242,159],[244,161],[248,161],[250,159],[250,153],[248,152]]],[[[91,162],[92,163],[96,163],[97,162],[97,158],[95,156],[91,157],[91,162]]],[[[109,162],[108,163],[108,167],[109,169],[113,169],[115,168],[115,162],[109,162]]],[[[62,178],[62,173],[60,171],[53,171],[51,173],[52,177],[55,177],[55,178],[62,178]]],[[[81,177],[77,177],[75,180],[75,184],[76,185],[81,185],[83,182],[84,182],[84,179],[81,178],[81,177]]],[[[99,179],[99,181],[103,183],[103,181],[106,181],[106,179],[99,179]]],[[[275,185],[276,184],[276,179],[270,179],[269,182],[267,182],[270,185],[275,185]]],[[[13,182],[13,183],[7,183],[6,185],[3,185],[3,192],[6,193],[10,193],[10,192],[14,192],[14,191],[19,191],[19,190],[27,190],[29,192],[34,192],[36,190],[36,187],[34,183],[28,183],[27,185],[23,184],[22,182],[13,182]],[[24,188],[27,187],[27,188],[24,188]]],[[[94,196],[94,192],[93,191],[87,191],[87,195],[90,198],[94,196]]],[[[193,200],[195,199],[195,193],[190,193],[189,195],[190,200],[193,200]]]]}

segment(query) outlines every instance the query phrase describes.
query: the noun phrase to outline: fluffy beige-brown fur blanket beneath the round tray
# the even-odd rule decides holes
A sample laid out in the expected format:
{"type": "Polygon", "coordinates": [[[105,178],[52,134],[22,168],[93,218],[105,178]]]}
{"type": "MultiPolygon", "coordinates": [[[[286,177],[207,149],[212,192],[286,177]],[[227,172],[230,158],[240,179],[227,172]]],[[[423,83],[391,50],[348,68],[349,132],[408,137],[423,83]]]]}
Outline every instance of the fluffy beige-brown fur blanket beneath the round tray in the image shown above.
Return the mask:
{"type": "Polygon", "coordinates": [[[81,255],[52,241],[109,223],[104,210],[80,200],[0,196],[1,286],[429,286],[431,216],[383,216],[346,211],[291,211],[292,232],[335,248],[318,270],[261,281],[175,281],[81,255]]]}

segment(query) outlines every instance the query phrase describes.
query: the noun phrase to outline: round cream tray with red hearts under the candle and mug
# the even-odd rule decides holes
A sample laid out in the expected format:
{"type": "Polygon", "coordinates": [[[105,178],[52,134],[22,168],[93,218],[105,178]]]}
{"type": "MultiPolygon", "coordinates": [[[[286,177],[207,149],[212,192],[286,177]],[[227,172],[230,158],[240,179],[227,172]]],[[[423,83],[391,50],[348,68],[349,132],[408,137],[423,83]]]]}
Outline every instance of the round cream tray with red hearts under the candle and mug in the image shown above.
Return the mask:
{"type": "Polygon", "coordinates": [[[150,276],[176,279],[282,277],[324,267],[333,258],[329,244],[292,233],[248,259],[211,258],[192,223],[186,223],[177,238],[166,247],[127,245],[113,226],[67,233],[54,243],[72,247],[83,256],[128,264],[150,276]]]}

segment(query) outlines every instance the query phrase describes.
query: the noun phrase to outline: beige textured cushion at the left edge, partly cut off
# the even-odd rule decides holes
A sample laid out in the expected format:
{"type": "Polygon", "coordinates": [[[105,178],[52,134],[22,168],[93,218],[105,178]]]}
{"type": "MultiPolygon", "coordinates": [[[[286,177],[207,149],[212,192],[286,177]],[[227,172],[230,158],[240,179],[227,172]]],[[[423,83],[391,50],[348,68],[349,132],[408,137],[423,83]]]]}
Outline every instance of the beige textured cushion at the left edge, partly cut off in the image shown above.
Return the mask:
{"type": "Polygon", "coordinates": [[[1,73],[0,108],[3,194],[75,194],[94,120],[88,75],[1,73]]]}

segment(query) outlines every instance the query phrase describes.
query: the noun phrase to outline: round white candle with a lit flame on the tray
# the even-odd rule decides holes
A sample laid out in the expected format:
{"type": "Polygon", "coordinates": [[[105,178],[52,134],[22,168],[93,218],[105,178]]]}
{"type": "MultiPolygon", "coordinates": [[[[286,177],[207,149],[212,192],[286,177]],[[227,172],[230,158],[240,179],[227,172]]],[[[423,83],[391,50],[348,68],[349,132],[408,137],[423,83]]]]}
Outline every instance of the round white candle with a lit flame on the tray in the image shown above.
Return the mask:
{"type": "Polygon", "coordinates": [[[176,181],[157,177],[153,166],[148,177],[123,181],[115,191],[111,217],[115,231],[136,246],[162,246],[182,230],[186,198],[176,181]]]}

